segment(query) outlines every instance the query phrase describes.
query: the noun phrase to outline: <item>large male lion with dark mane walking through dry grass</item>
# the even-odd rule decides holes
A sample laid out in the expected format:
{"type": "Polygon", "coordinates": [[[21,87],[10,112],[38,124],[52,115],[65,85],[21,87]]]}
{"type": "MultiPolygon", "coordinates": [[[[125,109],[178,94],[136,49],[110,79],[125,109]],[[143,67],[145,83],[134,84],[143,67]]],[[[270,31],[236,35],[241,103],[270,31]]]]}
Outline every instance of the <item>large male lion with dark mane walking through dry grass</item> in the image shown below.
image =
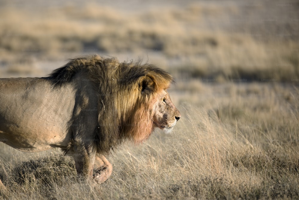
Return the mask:
{"type": "Polygon", "coordinates": [[[48,77],[0,79],[1,142],[25,152],[61,148],[80,177],[103,183],[112,173],[105,156],[181,118],[172,82],[152,64],[99,55],[71,59],[48,77]]]}

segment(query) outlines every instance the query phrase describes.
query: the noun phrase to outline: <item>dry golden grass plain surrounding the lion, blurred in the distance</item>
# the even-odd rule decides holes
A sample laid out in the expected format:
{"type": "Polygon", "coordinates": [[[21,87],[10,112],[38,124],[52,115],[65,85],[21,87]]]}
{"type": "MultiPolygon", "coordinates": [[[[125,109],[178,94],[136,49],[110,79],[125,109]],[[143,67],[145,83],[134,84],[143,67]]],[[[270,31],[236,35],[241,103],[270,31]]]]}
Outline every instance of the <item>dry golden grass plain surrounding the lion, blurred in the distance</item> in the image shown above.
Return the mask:
{"type": "Polygon", "coordinates": [[[0,78],[46,76],[78,55],[141,58],[174,76],[182,115],[172,133],[109,155],[100,185],[59,149],[1,142],[8,199],[299,198],[297,1],[0,5],[0,78]]]}

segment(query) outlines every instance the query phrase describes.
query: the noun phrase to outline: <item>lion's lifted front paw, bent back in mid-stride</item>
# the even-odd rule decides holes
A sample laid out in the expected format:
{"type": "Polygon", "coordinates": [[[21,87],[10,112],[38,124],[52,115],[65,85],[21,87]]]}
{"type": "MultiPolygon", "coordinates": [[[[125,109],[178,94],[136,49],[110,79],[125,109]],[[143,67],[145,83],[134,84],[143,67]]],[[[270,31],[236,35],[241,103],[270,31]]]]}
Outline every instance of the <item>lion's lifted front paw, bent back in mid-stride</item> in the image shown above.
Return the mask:
{"type": "Polygon", "coordinates": [[[112,173],[112,165],[103,155],[100,155],[95,159],[93,171],[94,180],[101,184],[110,177],[112,173]]]}

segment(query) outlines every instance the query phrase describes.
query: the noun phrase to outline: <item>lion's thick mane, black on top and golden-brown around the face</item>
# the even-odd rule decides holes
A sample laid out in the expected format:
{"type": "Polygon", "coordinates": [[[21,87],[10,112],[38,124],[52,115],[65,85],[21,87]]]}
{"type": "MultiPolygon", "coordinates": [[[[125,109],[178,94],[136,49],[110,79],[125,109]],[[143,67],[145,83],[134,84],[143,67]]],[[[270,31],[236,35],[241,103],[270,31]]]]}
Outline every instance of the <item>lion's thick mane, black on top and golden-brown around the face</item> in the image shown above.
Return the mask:
{"type": "Polygon", "coordinates": [[[97,95],[98,124],[94,139],[99,153],[110,152],[125,140],[139,143],[154,129],[152,107],[172,76],[141,61],[120,63],[99,55],[71,59],[49,75],[54,87],[73,82],[76,74],[89,80],[97,95]]]}

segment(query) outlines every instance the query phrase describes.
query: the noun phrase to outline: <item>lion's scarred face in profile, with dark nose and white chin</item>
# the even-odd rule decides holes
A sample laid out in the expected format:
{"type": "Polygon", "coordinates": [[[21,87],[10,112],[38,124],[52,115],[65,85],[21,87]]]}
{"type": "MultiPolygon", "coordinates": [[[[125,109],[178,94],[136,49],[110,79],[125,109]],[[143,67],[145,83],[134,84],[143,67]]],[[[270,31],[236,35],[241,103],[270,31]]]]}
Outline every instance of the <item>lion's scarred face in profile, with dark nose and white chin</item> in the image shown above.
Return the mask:
{"type": "Polygon", "coordinates": [[[176,122],[181,118],[181,113],[173,105],[170,96],[166,90],[158,96],[153,107],[153,122],[155,126],[169,133],[176,122]]]}

